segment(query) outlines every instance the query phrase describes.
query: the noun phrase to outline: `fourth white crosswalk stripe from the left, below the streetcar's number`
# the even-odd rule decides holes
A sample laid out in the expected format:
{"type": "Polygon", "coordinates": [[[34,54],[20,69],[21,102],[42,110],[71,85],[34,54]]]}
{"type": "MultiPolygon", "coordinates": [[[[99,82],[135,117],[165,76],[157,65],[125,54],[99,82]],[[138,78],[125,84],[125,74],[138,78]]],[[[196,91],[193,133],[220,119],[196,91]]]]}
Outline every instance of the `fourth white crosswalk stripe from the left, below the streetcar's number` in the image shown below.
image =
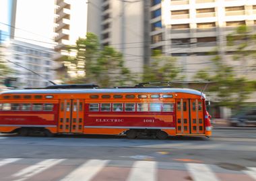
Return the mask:
{"type": "Polygon", "coordinates": [[[127,178],[127,181],[147,180],[155,181],[156,179],[156,162],[137,161],[127,178]]]}

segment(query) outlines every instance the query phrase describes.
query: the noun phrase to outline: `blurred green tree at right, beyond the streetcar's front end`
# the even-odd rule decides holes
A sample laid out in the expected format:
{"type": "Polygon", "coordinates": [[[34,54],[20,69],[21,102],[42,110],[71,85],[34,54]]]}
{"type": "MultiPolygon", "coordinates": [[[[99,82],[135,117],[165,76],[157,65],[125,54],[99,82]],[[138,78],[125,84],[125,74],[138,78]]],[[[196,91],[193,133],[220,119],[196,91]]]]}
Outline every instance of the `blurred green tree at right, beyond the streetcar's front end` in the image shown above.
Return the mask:
{"type": "MultiPolygon", "coordinates": [[[[241,26],[236,32],[227,36],[228,49],[226,52],[232,51],[232,60],[241,61],[241,65],[245,65],[249,56],[253,56],[255,52],[248,50],[249,42],[255,40],[254,36],[249,34],[247,27],[241,26]]],[[[248,80],[247,70],[238,74],[234,66],[226,62],[226,56],[223,56],[220,50],[210,52],[216,54],[212,59],[214,66],[205,70],[199,70],[195,78],[199,80],[210,80],[212,84],[208,91],[214,93],[217,104],[223,107],[230,107],[234,110],[240,109],[242,103],[249,99],[250,94],[255,90],[255,80],[248,80]],[[210,74],[209,72],[215,72],[210,74]]],[[[247,66],[243,66],[247,69],[247,66]]]]}

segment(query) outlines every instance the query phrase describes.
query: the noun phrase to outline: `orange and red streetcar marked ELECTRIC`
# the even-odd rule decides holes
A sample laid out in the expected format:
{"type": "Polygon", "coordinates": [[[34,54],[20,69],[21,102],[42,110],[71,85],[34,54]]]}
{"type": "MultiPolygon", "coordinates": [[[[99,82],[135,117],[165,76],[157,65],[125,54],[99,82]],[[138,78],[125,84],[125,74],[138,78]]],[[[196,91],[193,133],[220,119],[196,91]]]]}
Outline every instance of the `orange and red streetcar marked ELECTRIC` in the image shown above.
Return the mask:
{"type": "Polygon", "coordinates": [[[204,135],[212,126],[205,95],[188,88],[54,85],[0,94],[0,132],[55,134],[204,135]]]}

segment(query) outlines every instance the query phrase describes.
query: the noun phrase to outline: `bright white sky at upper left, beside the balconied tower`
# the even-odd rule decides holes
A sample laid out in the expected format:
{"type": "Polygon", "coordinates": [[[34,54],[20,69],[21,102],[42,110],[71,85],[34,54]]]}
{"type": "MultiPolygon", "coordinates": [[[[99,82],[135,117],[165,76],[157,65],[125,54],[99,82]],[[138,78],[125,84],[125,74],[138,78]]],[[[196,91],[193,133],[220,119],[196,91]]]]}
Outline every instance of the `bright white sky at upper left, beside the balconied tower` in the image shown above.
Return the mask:
{"type": "MultiPolygon", "coordinates": [[[[10,24],[8,21],[11,18],[8,14],[8,1],[0,0],[0,22],[10,24]]],[[[54,10],[54,0],[18,0],[15,40],[53,48],[54,10]]],[[[3,24],[0,27],[3,30],[7,29],[7,26],[3,24]]]]}

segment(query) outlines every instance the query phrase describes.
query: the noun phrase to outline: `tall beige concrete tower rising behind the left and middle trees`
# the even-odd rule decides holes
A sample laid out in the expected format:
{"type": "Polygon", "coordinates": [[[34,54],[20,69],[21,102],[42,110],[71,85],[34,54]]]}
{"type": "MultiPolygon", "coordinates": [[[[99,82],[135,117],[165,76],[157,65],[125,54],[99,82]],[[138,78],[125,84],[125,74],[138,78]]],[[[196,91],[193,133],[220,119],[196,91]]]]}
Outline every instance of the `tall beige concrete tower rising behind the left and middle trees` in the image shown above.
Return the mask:
{"type": "Polygon", "coordinates": [[[143,72],[150,56],[150,1],[88,1],[88,32],[112,46],[131,72],[143,72]]]}

